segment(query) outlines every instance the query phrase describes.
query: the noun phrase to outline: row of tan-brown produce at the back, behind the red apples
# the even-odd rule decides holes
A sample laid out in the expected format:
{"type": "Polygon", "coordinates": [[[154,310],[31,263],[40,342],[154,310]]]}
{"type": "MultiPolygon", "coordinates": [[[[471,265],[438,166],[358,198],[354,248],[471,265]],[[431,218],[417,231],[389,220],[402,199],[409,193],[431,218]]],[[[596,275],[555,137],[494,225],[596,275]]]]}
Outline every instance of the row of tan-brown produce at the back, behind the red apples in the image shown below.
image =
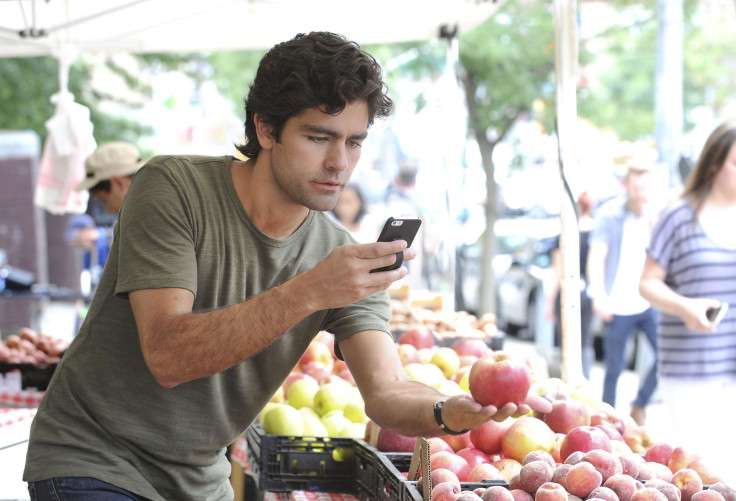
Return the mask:
{"type": "Polygon", "coordinates": [[[409,301],[391,300],[391,332],[429,329],[437,338],[470,337],[486,339],[499,335],[496,316],[487,313],[478,318],[466,311],[435,311],[412,306],[409,301]]]}

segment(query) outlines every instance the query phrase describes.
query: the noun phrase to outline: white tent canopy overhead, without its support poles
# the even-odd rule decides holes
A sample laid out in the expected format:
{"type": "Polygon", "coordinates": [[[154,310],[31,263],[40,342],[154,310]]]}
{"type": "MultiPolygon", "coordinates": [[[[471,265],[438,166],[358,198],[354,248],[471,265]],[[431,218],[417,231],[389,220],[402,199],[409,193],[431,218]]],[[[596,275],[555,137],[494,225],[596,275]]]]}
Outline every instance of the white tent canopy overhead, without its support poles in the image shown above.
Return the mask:
{"type": "Polygon", "coordinates": [[[186,53],[265,49],[300,32],[341,33],[361,45],[460,32],[499,0],[0,0],[0,57],[79,52],[186,53]]]}

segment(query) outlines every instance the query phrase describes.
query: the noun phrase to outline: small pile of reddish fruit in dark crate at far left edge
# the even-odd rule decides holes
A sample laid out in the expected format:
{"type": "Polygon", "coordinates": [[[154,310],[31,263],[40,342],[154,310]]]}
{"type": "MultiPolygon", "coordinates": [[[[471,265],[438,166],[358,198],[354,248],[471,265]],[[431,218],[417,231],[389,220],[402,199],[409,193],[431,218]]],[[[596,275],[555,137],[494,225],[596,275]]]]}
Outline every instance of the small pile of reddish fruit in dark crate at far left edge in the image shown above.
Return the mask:
{"type": "Polygon", "coordinates": [[[0,362],[39,366],[57,363],[67,344],[63,339],[22,327],[0,343],[0,362]]]}

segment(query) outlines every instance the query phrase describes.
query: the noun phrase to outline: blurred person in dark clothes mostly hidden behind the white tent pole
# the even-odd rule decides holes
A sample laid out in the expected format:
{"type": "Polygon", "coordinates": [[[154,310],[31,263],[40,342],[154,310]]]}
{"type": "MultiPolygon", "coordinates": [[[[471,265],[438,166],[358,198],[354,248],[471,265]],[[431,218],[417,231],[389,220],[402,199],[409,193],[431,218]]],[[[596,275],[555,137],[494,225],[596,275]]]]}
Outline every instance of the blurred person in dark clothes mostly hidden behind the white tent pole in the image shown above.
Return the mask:
{"type": "MultiPolygon", "coordinates": [[[[590,246],[590,234],[593,230],[593,200],[587,192],[578,196],[578,231],[580,238],[580,342],[582,344],[583,375],[590,379],[590,370],[595,363],[595,350],[593,348],[593,306],[588,295],[588,283],[586,280],[588,264],[588,248],[590,246]]],[[[555,341],[561,343],[561,299],[560,282],[562,280],[562,251],[560,250],[560,237],[558,236],[552,251],[552,269],[554,281],[550,286],[546,297],[545,315],[547,319],[555,323],[555,341]]],[[[575,284],[569,284],[575,287],[575,284]]]]}

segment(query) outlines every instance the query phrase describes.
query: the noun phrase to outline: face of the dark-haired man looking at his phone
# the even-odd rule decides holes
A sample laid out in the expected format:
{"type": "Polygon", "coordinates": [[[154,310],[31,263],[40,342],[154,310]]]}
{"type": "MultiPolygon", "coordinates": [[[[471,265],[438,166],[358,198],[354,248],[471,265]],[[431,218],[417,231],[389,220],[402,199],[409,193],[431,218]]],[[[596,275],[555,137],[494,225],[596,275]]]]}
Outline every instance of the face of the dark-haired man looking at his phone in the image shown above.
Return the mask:
{"type": "Polygon", "coordinates": [[[368,106],[356,101],[338,115],[309,109],[290,118],[273,144],[271,170],[290,201],[326,211],[337,203],[368,134],[368,106]]]}

